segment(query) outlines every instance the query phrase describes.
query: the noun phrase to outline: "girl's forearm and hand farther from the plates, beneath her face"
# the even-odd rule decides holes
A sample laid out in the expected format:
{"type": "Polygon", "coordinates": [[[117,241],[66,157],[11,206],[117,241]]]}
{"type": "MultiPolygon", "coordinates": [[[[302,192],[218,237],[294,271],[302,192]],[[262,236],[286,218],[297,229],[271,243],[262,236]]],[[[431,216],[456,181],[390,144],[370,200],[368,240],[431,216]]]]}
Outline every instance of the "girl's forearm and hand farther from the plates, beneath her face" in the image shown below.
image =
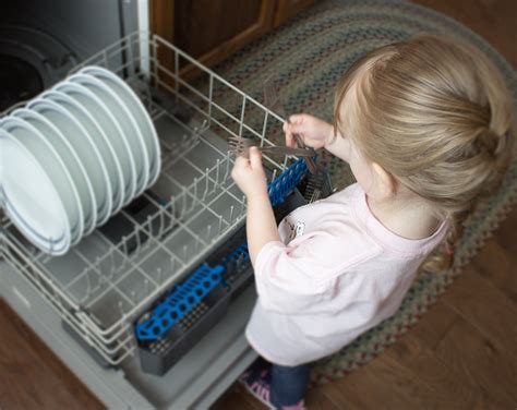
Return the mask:
{"type": "Polygon", "coordinates": [[[316,117],[300,113],[289,118],[289,122],[284,123],[286,133],[286,145],[293,147],[296,145],[292,134],[299,134],[303,142],[314,148],[325,148],[330,154],[349,161],[350,143],[348,138],[337,132],[334,126],[316,117]]]}

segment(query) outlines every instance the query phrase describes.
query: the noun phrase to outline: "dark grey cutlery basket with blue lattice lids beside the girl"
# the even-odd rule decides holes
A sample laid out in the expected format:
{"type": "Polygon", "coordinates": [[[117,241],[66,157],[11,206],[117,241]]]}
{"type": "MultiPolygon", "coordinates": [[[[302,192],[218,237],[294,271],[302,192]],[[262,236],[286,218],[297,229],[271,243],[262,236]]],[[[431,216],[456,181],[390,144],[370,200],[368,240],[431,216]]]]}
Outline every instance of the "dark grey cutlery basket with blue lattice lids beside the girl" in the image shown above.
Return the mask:
{"type": "MultiPolygon", "coordinates": [[[[305,169],[304,166],[300,167],[305,169]]],[[[275,206],[279,220],[306,202],[298,190],[275,206]]],[[[135,325],[144,372],[163,375],[224,315],[231,300],[252,281],[253,269],[241,227],[207,262],[175,286],[170,294],[135,325]]]]}

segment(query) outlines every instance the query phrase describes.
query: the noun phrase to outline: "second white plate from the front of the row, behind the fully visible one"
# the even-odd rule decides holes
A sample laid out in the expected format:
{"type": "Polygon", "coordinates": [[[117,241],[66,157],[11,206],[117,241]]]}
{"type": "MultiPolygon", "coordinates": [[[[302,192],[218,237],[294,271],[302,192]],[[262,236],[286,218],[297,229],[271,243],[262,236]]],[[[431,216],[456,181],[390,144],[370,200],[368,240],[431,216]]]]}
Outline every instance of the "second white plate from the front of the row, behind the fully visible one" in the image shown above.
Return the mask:
{"type": "Polygon", "coordinates": [[[85,228],[89,228],[94,224],[93,218],[96,209],[94,190],[83,162],[61,131],[39,112],[26,108],[19,108],[12,112],[12,116],[24,120],[39,131],[41,137],[52,146],[61,158],[67,171],[72,178],[72,189],[77,192],[80,198],[79,207],[81,208],[82,215],[80,220],[82,229],[79,230],[77,236],[72,236],[72,244],[75,244],[84,236],[85,228]]]}

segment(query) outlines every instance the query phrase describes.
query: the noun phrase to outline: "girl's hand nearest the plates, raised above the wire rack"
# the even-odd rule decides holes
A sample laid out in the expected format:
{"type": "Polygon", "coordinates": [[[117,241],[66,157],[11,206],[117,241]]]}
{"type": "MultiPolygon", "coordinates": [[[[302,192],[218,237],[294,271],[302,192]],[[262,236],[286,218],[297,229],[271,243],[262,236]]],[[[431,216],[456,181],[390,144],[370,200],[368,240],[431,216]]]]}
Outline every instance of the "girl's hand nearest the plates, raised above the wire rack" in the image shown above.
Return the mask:
{"type": "Polygon", "coordinates": [[[250,148],[250,159],[237,157],[231,178],[247,197],[267,194],[266,173],[262,166],[262,154],[256,147],[250,148]]]}

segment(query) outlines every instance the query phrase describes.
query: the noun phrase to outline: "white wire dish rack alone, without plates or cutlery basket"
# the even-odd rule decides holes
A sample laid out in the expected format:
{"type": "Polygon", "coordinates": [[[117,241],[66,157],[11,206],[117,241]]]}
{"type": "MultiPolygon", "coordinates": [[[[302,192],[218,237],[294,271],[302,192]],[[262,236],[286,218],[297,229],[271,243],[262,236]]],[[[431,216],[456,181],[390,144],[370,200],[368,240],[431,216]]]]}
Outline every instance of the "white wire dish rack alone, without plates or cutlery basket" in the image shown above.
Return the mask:
{"type": "MultiPolygon", "coordinates": [[[[142,98],[160,138],[160,178],[60,257],[32,246],[0,209],[0,251],[103,361],[118,365],[134,354],[135,319],[243,225],[226,140],[273,145],[266,135],[278,134],[282,119],[157,35],[133,33],[70,74],[92,64],[142,98]],[[192,82],[180,75],[185,64],[199,70],[192,82]]],[[[296,161],[264,156],[270,181],[296,161]]]]}

